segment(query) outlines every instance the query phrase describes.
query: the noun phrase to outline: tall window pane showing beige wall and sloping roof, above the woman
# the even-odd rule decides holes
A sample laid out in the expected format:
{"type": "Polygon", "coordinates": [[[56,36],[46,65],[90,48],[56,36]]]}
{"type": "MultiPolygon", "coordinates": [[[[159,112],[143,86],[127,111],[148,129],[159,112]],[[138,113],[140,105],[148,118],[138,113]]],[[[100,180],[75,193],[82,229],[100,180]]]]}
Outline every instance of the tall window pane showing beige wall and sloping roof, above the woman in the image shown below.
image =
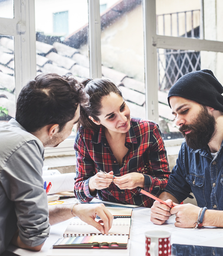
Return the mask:
{"type": "Polygon", "coordinates": [[[100,6],[105,3],[101,13],[103,78],[120,86],[131,116],[145,118],[142,3],[100,0],[100,6]]]}

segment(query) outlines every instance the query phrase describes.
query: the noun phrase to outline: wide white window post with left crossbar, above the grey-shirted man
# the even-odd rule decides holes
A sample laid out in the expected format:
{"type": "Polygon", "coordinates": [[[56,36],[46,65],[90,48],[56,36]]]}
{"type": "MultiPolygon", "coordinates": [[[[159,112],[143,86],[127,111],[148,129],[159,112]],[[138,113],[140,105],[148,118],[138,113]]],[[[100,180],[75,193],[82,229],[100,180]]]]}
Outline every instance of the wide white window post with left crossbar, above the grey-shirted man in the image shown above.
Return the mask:
{"type": "Polygon", "coordinates": [[[34,0],[14,0],[14,18],[0,18],[0,34],[14,36],[16,100],[26,82],[36,76],[34,0]]]}

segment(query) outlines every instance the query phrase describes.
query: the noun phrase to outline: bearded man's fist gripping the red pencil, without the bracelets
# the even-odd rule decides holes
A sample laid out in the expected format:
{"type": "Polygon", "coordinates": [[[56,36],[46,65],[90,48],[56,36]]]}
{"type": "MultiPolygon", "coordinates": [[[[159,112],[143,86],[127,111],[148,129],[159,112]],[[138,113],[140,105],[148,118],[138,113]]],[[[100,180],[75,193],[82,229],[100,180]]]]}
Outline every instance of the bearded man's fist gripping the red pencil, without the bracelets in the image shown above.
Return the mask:
{"type": "MultiPolygon", "coordinates": [[[[173,201],[171,199],[168,199],[165,202],[169,206],[171,206],[173,204],[173,201]]],[[[162,225],[171,216],[171,212],[170,211],[171,211],[170,207],[168,207],[167,205],[165,205],[163,203],[155,201],[153,203],[153,206],[151,207],[151,217],[150,217],[150,220],[154,224],[162,225]]]]}

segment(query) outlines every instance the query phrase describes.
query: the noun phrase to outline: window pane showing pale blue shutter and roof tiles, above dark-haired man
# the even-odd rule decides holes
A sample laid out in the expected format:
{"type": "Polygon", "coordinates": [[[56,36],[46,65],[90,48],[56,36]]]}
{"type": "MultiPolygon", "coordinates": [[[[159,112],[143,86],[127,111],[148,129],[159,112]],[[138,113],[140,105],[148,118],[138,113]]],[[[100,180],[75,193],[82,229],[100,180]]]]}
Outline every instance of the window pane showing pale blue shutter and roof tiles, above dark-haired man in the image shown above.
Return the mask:
{"type": "MultiPolygon", "coordinates": [[[[87,0],[35,0],[37,75],[90,76],[87,0]],[[44,8],[42,8],[44,6],[44,8]]],[[[75,135],[75,130],[71,134],[75,135]]]]}

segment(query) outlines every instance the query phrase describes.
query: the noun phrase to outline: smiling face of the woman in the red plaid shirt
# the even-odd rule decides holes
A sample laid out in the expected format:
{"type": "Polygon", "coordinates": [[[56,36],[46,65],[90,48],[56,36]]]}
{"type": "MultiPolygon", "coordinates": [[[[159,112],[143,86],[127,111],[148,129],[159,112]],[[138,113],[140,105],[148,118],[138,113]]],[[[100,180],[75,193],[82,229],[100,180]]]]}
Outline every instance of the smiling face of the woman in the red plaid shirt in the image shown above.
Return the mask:
{"type": "Polygon", "coordinates": [[[103,125],[109,131],[119,133],[129,131],[130,110],[120,95],[111,92],[110,95],[102,98],[101,105],[101,114],[98,116],[100,121],[94,121],[96,124],[103,125]]]}

